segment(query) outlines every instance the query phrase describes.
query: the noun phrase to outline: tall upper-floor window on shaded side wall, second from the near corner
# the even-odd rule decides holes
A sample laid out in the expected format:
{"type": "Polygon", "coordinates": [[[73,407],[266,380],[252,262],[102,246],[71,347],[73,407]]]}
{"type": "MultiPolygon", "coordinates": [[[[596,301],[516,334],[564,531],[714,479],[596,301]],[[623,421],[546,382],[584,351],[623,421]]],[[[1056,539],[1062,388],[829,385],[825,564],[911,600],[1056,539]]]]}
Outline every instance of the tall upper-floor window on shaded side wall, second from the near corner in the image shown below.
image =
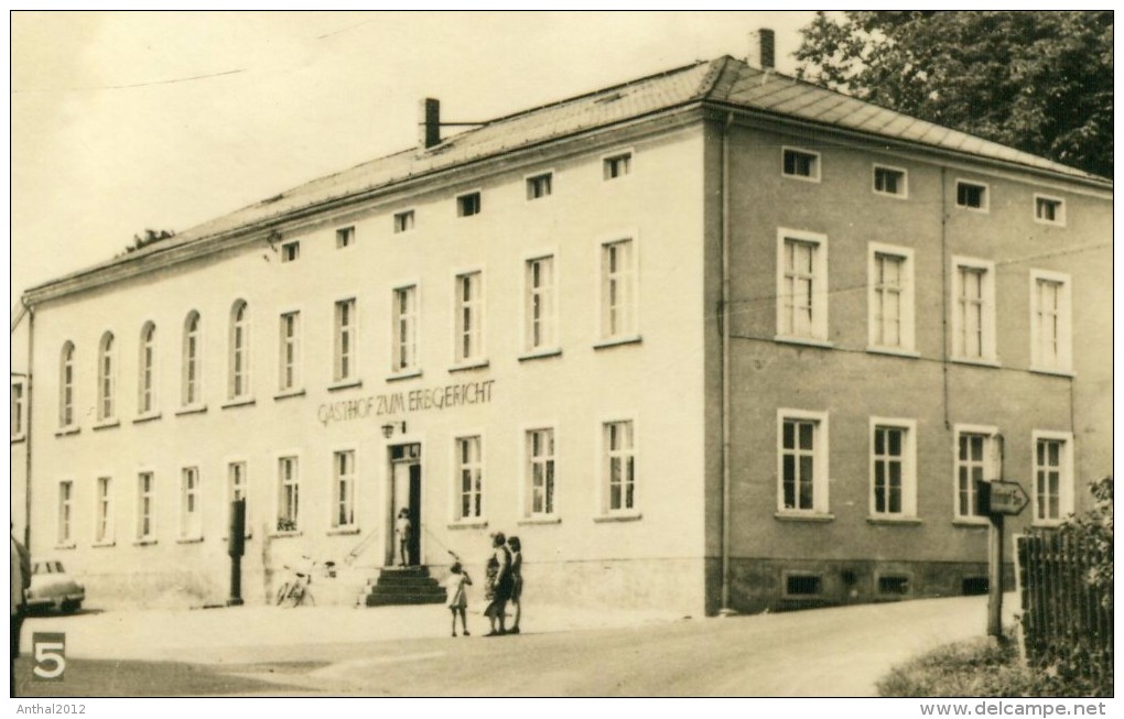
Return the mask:
{"type": "Polygon", "coordinates": [[[913,251],[870,244],[870,348],[914,349],[913,251]]]}

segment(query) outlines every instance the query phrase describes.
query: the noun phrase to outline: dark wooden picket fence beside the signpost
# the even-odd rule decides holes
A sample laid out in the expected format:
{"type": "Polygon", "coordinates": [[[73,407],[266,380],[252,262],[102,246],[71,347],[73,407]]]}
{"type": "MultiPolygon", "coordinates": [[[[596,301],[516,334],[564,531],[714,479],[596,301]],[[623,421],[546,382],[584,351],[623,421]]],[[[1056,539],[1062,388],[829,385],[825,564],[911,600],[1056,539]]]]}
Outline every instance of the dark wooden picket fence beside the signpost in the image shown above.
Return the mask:
{"type": "Polygon", "coordinates": [[[1112,681],[1112,589],[1088,581],[1099,553],[1089,539],[1070,534],[1015,537],[1021,646],[1032,666],[1064,666],[1094,682],[1112,681]]]}

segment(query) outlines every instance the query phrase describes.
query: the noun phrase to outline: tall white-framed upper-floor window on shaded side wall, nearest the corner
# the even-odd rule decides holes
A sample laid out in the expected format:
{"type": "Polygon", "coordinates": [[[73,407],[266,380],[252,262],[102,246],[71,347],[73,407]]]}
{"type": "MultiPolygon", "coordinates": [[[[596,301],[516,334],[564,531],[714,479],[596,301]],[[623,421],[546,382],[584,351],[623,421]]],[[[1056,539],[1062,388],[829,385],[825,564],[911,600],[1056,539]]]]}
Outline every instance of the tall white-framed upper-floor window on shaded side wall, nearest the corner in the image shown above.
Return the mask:
{"type": "Polygon", "coordinates": [[[777,334],[780,339],[827,339],[827,238],[778,233],[777,334]]]}

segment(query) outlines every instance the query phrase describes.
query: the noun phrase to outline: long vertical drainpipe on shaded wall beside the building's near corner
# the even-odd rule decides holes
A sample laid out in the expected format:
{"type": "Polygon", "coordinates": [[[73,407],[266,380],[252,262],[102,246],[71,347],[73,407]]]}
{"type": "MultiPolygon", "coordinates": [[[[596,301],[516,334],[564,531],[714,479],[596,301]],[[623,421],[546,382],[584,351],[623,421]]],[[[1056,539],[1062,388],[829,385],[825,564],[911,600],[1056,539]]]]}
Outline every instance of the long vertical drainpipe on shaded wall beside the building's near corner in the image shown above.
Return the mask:
{"type": "Polygon", "coordinates": [[[729,607],[729,126],[722,127],[722,608],[719,616],[736,613],[729,607]]]}

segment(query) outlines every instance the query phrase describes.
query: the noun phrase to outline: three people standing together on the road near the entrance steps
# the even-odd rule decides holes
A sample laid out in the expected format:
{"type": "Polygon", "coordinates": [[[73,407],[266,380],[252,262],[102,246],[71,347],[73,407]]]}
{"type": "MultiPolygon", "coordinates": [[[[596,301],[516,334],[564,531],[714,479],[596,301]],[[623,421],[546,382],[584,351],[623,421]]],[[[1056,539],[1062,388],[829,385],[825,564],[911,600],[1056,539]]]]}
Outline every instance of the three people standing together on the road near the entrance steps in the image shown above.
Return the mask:
{"type": "MultiPolygon", "coordinates": [[[[491,622],[491,630],[486,635],[495,637],[504,634],[519,634],[519,619],[523,615],[523,547],[518,537],[506,539],[502,533],[492,535],[492,555],[488,558],[487,585],[484,595],[488,607],[484,616],[491,622]],[[511,628],[506,628],[507,602],[515,604],[511,628]]],[[[466,619],[469,608],[468,588],[472,577],[464,571],[460,562],[450,567],[445,588],[448,591],[448,609],[452,612],[453,636],[456,636],[456,617],[461,617],[461,634],[469,635],[466,619]]]]}

